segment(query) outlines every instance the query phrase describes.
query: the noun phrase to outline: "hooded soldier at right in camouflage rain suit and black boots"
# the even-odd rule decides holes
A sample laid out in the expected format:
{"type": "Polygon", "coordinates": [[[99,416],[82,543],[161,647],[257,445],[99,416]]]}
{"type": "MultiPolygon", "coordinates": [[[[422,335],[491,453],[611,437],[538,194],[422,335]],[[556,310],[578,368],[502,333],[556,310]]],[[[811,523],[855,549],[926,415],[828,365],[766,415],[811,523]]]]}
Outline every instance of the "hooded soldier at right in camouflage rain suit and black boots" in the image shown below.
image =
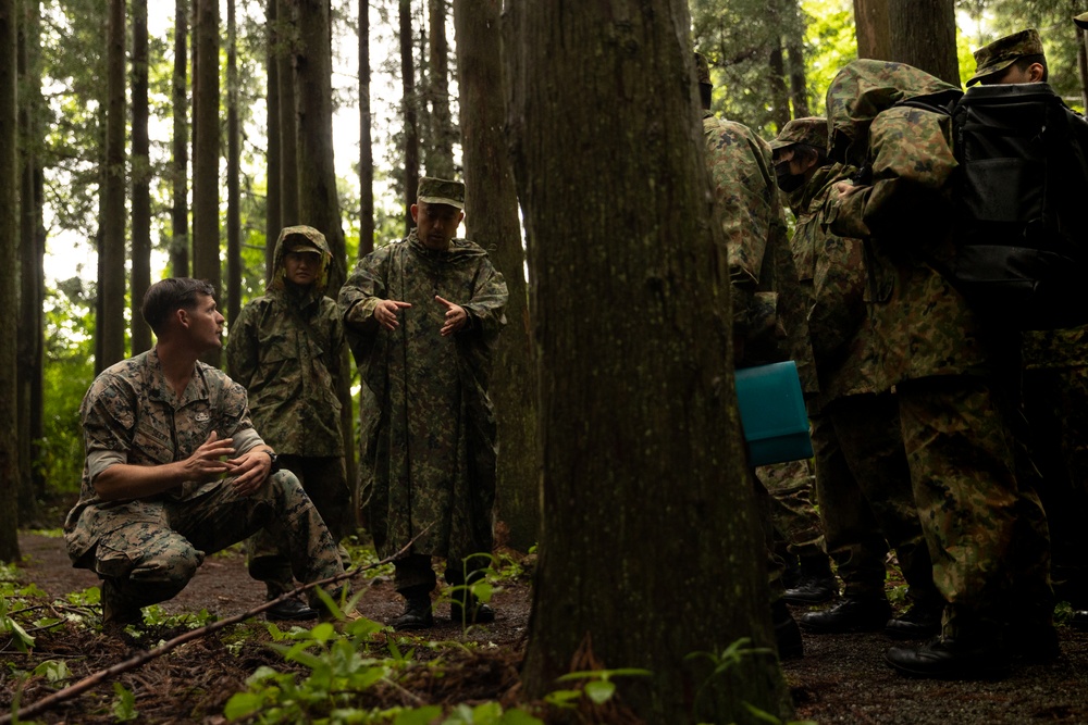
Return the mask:
{"type": "Polygon", "coordinates": [[[1003,672],[1013,653],[1052,657],[1046,518],[1017,480],[1011,400],[997,372],[1014,340],[986,330],[935,270],[954,251],[950,179],[956,167],[941,104],[961,90],[900,63],[858,60],[827,91],[830,148],[864,170],[834,185],[831,229],[868,239],[866,301],[880,388],[895,386],[915,502],[934,578],[948,604],[943,634],[892,648],[920,676],[1003,672]]]}

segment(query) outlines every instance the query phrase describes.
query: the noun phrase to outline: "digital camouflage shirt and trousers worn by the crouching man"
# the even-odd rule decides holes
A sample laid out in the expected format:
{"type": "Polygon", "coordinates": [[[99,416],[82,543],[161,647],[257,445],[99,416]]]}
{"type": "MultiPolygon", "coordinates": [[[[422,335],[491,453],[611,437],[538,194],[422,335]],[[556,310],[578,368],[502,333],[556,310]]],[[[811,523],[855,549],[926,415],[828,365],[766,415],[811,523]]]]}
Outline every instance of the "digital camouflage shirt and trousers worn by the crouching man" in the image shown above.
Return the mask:
{"type": "Polygon", "coordinates": [[[344,571],[321,516],[286,471],[269,476],[249,497],[236,496],[228,480],[184,484],[135,500],[102,501],[95,492],[95,477],[109,466],[181,461],[212,430],[233,438],[239,455],[263,446],[249,420],[245,389],[221,371],[198,362],[178,400],[151,349],[102,372],[79,415],[87,461],[64,538],[73,563],[97,572],[116,592],[109,604],[132,610],[170,599],[207,554],[261,528],[286,543],[299,580],[344,571]]]}

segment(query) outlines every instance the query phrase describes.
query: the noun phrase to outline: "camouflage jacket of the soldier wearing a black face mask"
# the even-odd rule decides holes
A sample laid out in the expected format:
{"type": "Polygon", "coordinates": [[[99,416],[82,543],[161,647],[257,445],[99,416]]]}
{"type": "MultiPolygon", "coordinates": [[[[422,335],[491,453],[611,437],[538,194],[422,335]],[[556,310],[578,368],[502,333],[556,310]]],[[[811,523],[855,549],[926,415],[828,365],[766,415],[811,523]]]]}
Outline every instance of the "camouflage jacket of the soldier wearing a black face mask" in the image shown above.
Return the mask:
{"type": "Polygon", "coordinates": [[[794,192],[790,204],[798,216],[790,247],[801,285],[809,295],[808,334],[823,404],[846,395],[887,389],[878,383],[885,376],[865,309],[863,242],[837,236],[827,227],[832,186],[855,171],[843,164],[818,168],[794,192]]]}

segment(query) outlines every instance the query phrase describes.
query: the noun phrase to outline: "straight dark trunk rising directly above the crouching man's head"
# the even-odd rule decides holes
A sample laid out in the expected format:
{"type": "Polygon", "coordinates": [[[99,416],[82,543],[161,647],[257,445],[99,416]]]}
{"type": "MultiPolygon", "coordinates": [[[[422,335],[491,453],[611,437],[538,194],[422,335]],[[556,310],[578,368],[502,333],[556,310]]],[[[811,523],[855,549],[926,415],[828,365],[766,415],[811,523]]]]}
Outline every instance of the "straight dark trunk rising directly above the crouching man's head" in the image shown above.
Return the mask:
{"type": "MultiPolygon", "coordinates": [[[[193,23],[193,276],[222,295],[219,240],[219,0],[197,0],[193,23]]],[[[219,366],[220,350],[201,359],[219,366]]]]}

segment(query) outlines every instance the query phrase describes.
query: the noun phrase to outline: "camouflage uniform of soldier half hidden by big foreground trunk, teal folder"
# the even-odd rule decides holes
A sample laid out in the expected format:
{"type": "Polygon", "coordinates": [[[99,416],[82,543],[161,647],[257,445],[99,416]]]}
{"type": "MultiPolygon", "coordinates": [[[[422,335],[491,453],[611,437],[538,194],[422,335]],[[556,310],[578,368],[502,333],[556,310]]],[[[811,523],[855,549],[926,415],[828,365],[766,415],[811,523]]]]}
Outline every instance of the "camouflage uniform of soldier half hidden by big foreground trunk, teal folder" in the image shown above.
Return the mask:
{"type": "MultiPolygon", "coordinates": [[[[729,261],[737,367],[793,360],[806,393],[816,389],[802,292],[790,255],[786,216],[778,196],[770,147],[746,126],[703,116],[706,165],[715,193],[729,261]]],[[[807,466],[761,466],[756,493],[764,515],[768,547],[772,527],[801,548],[812,546],[812,520],[794,515],[799,490],[811,489],[807,466]],[[774,488],[771,488],[774,486],[774,488]],[[774,497],[778,504],[771,500],[774,497]],[[789,514],[787,513],[789,512],[789,514]]],[[[802,495],[803,496],[803,495],[802,495]]],[[[768,553],[771,553],[768,552],[768,553]]],[[[772,598],[782,591],[784,563],[769,563],[772,598]]]]}

